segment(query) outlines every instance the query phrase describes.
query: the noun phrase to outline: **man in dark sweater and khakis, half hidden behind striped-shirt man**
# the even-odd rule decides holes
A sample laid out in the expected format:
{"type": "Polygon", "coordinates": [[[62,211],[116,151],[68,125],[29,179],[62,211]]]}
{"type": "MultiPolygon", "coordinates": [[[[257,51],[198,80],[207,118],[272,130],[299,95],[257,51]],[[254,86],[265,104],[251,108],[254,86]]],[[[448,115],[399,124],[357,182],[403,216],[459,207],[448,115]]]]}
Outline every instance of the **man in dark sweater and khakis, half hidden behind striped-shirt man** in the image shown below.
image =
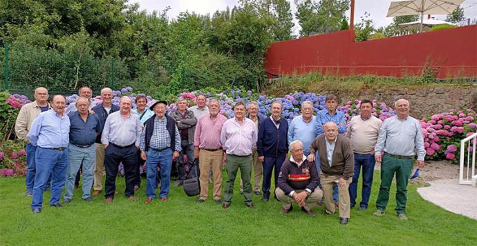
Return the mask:
{"type": "Polygon", "coordinates": [[[102,175],[104,170],[104,145],[101,143],[101,136],[102,130],[104,127],[104,123],[106,122],[106,118],[108,118],[109,114],[120,110],[118,105],[114,105],[111,103],[111,99],[113,99],[113,90],[110,88],[103,88],[101,90],[101,99],[102,103],[100,105],[95,105],[91,109],[99,118],[101,122],[101,132],[96,137],[96,164],[95,164],[95,175],[94,175],[94,185],[93,185],[93,196],[97,196],[103,189],[102,185],[102,175]]]}

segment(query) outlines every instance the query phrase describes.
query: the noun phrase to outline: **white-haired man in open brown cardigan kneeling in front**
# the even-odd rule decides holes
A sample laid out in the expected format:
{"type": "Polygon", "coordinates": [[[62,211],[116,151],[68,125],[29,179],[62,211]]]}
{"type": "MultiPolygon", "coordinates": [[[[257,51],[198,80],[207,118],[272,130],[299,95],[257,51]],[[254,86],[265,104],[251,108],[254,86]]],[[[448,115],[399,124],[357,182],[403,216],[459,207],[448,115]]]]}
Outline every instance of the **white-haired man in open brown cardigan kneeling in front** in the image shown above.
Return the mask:
{"type": "Polygon", "coordinates": [[[346,136],[338,134],[338,125],[334,122],[324,124],[325,133],[317,136],[311,143],[308,161],[315,160],[318,150],[321,163],[319,176],[323,187],[325,212],[335,213],[333,201],[333,185],[338,185],[339,223],[345,225],[350,218],[350,194],[348,187],[353,180],[355,158],[353,148],[346,136]]]}

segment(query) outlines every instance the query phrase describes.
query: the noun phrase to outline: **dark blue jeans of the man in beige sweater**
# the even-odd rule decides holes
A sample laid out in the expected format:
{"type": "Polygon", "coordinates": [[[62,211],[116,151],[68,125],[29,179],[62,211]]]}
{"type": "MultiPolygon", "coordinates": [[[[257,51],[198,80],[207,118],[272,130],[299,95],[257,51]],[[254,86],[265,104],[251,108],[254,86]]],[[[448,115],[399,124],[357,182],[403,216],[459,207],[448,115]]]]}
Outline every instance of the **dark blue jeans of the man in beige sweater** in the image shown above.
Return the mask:
{"type": "Polygon", "coordinates": [[[359,178],[359,171],[361,171],[361,167],[363,167],[363,187],[359,207],[368,208],[371,185],[373,185],[374,165],[375,158],[373,154],[355,153],[355,175],[353,176],[353,182],[351,182],[349,187],[351,207],[355,207],[356,205],[357,181],[359,178]]]}

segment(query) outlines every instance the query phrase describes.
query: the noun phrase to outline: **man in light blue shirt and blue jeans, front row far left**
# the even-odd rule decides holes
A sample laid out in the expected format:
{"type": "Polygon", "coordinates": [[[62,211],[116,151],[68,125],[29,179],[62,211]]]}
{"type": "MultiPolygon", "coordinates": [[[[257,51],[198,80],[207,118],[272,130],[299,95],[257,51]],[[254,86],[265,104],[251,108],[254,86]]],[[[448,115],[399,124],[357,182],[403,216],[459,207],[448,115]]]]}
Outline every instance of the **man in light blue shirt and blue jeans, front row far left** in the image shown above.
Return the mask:
{"type": "Polygon", "coordinates": [[[35,118],[28,132],[28,141],[37,146],[35,152],[35,185],[33,186],[32,211],[41,213],[43,191],[48,177],[53,173],[50,206],[62,207],[59,198],[66,182],[68,167],[68,141],[70,119],[64,114],[66,98],[53,96],[53,110],[42,112],[35,118]]]}

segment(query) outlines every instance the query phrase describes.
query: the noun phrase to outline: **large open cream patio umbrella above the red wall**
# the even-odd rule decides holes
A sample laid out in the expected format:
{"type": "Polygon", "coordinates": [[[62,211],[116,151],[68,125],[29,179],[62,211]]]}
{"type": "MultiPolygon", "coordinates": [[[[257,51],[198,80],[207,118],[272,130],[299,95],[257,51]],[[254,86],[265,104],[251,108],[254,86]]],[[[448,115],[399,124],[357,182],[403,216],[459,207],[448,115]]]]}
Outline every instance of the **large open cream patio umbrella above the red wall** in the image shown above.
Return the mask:
{"type": "Polygon", "coordinates": [[[403,15],[421,15],[420,32],[424,14],[450,14],[465,0],[405,0],[391,1],[386,17],[400,17],[403,15]]]}

